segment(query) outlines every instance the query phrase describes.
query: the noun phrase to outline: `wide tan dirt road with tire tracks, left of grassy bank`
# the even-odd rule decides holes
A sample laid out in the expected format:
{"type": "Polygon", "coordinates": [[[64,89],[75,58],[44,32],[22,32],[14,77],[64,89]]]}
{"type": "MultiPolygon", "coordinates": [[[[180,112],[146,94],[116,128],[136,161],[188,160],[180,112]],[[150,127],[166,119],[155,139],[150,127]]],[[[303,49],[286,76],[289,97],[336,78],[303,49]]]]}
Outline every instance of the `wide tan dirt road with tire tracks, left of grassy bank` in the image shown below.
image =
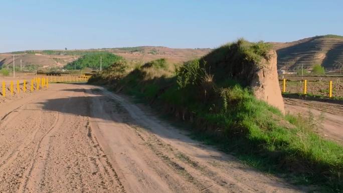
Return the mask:
{"type": "Polygon", "coordinates": [[[103,88],[0,104],[0,192],[302,192],[103,88]]]}

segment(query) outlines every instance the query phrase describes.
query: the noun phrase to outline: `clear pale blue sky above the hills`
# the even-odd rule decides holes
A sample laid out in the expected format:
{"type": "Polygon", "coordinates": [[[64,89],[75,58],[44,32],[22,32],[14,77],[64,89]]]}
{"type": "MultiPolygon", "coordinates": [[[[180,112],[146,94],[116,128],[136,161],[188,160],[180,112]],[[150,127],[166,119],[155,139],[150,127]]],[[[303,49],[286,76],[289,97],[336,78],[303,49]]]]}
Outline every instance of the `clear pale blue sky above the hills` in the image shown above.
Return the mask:
{"type": "Polygon", "coordinates": [[[343,1],[1,1],[0,52],[133,46],[214,48],[238,38],[343,35],[343,1]]]}

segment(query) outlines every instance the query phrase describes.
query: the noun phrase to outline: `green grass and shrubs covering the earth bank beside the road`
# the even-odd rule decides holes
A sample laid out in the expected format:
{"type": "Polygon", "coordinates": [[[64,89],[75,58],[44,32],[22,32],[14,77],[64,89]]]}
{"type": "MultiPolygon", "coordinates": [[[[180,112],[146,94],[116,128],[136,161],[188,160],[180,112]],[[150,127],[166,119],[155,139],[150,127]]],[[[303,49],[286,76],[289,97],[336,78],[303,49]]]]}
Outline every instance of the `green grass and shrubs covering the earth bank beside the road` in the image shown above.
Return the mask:
{"type": "Polygon", "coordinates": [[[311,118],[282,115],[257,100],[244,69],[267,57],[271,46],[244,40],[173,65],[167,60],[135,66],[115,62],[89,83],[133,95],[192,125],[193,136],[240,160],[294,182],[343,190],[343,148],[312,132],[311,118]],[[237,65],[239,64],[239,65],[237,65]]]}

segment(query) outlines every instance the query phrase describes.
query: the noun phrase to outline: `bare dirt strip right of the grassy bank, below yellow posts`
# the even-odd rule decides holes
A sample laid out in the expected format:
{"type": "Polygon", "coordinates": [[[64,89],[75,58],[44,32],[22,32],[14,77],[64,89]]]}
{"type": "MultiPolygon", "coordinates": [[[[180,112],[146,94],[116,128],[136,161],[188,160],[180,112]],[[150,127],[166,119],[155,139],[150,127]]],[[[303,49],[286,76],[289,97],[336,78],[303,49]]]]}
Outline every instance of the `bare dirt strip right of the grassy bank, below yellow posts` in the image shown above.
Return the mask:
{"type": "Polygon", "coordinates": [[[325,138],[343,144],[343,105],[329,102],[306,101],[284,98],[285,111],[300,113],[304,117],[313,116],[317,128],[313,128],[325,138]]]}

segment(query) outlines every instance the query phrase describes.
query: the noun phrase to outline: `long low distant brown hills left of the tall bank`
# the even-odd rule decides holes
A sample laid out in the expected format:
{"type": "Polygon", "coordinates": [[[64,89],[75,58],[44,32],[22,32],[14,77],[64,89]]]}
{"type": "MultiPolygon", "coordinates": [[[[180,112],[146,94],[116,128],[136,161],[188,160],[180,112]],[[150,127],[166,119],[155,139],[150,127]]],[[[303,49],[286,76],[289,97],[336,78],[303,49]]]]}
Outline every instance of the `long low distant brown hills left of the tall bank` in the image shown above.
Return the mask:
{"type": "MultiPolygon", "coordinates": [[[[20,66],[20,60],[24,67],[48,69],[63,67],[67,63],[77,60],[79,57],[93,52],[110,52],[122,56],[127,60],[148,62],[151,60],[166,58],[171,62],[184,62],[200,58],[208,54],[211,49],[176,49],[167,47],[128,47],[128,48],[103,48],[88,50],[30,50],[0,54],[0,67],[13,64],[13,54],[16,55],[16,66],[20,66]]],[[[28,68],[24,68],[27,70],[28,68]]]]}

